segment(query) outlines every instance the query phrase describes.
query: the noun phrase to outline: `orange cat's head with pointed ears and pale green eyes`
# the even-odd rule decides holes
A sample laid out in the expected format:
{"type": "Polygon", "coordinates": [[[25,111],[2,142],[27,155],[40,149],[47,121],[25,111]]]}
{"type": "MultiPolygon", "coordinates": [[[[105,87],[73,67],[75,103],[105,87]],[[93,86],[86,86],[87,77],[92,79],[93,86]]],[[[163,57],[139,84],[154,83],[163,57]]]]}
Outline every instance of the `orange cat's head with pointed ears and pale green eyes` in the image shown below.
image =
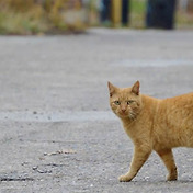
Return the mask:
{"type": "Polygon", "coordinates": [[[135,120],[141,109],[140,83],[132,88],[121,89],[107,82],[110,90],[110,106],[120,118],[135,120]]]}

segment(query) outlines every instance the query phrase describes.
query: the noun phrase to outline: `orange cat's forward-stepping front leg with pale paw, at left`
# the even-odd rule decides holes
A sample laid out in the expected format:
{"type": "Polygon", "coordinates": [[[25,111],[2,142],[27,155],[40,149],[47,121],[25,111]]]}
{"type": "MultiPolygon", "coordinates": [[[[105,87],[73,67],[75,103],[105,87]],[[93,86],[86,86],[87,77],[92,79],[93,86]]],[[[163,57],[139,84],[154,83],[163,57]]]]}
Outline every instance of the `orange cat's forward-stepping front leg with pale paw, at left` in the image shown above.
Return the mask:
{"type": "Polygon", "coordinates": [[[130,169],[126,174],[121,175],[118,178],[120,182],[129,182],[132,179],[134,179],[134,177],[138,173],[138,171],[146,162],[150,154],[151,154],[150,148],[135,147],[135,152],[132,160],[130,169]]]}

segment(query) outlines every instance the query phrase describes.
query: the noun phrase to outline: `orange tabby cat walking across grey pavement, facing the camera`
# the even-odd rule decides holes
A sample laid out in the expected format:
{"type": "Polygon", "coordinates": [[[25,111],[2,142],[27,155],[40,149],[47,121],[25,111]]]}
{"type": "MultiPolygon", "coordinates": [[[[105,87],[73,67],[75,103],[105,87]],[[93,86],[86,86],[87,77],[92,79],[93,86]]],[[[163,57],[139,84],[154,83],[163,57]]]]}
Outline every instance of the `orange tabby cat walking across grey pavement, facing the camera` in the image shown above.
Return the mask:
{"type": "Polygon", "coordinates": [[[107,82],[110,106],[134,143],[129,171],[121,182],[133,180],[155,150],[168,169],[168,181],[178,179],[172,148],[193,147],[193,92],[169,99],[140,94],[140,83],[120,89],[107,82]]]}

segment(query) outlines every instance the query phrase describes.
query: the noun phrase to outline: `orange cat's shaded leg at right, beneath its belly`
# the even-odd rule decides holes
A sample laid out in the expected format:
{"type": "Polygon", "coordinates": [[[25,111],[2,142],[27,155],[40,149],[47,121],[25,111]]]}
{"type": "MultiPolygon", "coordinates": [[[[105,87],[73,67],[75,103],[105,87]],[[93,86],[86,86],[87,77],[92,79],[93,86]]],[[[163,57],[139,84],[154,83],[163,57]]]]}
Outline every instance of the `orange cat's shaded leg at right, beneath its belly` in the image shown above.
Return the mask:
{"type": "Polygon", "coordinates": [[[178,172],[177,172],[177,166],[174,162],[173,154],[171,149],[161,149],[158,150],[157,154],[161,158],[161,160],[164,162],[164,166],[168,169],[168,181],[174,181],[178,179],[178,172]]]}

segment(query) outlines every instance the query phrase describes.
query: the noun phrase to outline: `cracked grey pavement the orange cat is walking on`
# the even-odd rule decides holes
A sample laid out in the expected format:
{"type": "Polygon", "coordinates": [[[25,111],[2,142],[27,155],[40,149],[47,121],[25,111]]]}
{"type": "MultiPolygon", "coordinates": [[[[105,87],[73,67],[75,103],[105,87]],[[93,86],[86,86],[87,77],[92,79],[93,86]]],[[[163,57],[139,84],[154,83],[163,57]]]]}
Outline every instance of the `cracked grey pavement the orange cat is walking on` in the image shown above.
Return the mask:
{"type": "Polygon", "coordinates": [[[91,29],[0,36],[0,192],[193,192],[193,149],[174,149],[179,181],[152,154],[129,183],[133,144],[106,82],[168,98],[193,91],[192,31],[91,29]]]}

